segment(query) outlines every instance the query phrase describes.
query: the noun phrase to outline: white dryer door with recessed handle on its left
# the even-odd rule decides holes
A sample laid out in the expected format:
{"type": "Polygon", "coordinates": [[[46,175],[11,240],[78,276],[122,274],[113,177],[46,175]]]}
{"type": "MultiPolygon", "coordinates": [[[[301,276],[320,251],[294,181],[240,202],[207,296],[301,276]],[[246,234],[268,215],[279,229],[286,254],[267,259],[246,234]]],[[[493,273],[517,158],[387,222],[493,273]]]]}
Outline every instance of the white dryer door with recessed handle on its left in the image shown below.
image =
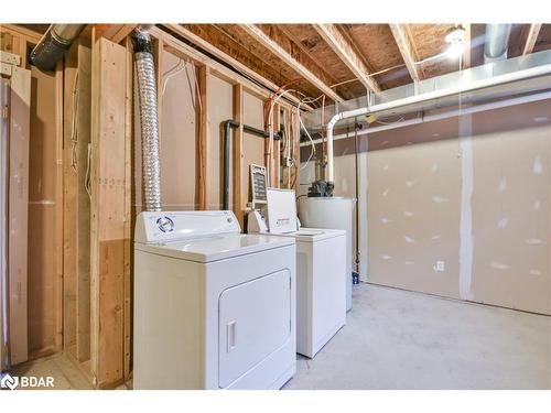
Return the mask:
{"type": "Polygon", "coordinates": [[[226,388],[291,336],[291,274],[279,271],[220,294],[219,387],[226,388]]]}

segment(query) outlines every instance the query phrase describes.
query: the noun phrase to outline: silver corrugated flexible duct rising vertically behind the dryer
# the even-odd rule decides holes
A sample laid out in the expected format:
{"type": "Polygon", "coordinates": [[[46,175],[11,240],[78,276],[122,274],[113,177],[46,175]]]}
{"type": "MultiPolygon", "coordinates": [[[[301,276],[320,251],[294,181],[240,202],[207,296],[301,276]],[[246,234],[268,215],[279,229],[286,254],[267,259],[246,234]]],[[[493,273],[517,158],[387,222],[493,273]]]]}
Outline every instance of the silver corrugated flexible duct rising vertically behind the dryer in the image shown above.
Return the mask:
{"type": "Polygon", "coordinates": [[[132,32],[142,148],[145,210],[161,210],[161,167],[159,162],[159,118],[156,78],[151,37],[144,28],[132,32]]]}

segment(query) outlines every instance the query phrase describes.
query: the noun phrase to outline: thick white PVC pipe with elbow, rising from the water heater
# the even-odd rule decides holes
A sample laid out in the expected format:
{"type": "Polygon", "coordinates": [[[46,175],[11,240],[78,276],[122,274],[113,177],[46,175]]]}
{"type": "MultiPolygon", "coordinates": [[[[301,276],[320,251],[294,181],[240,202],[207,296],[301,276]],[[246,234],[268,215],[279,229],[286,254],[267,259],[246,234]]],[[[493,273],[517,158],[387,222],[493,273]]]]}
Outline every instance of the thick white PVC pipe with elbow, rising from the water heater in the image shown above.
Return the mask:
{"type": "Polygon", "coordinates": [[[335,115],[326,128],[326,139],[327,139],[327,182],[334,184],[335,182],[335,170],[333,162],[333,128],[335,124],[343,119],[356,118],[358,116],[366,116],[369,113],[376,113],[383,110],[396,109],[402,106],[420,104],[433,99],[440,99],[443,97],[454,96],[464,94],[467,91],[484,89],[487,87],[498,86],[511,81],[523,80],[531,77],[544,76],[551,73],[551,64],[541,65],[537,67],[531,67],[523,70],[517,70],[512,73],[508,73],[505,75],[494,76],[489,79],[475,80],[469,83],[468,85],[458,85],[455,87],[450,87],[442,90],[434,90],[426,94],[410,96],[403,99],[397,99],[390,102],[374,105],[370,107],[358,108],[354,110],[347,110],[335,115]]]}

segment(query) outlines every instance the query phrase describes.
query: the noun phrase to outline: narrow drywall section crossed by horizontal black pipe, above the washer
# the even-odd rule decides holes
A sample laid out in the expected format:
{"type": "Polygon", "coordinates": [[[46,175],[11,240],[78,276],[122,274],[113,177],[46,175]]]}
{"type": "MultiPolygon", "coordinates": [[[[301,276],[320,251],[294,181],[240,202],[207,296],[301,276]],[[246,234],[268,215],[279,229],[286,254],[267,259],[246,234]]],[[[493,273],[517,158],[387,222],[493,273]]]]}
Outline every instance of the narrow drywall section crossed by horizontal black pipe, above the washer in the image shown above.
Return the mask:
{"type": "MultiPolygon", "coordinates": [[[[263,130],[263,101],[256,96],[244,93],[242,105],[244,124],[263,130]]],[[[247,205],[251,199],[249,173],[251,163],[257,165],[264,164],[264,139],[244,131],[244,159],[241,165],[242,205],[247,205]]]]}

